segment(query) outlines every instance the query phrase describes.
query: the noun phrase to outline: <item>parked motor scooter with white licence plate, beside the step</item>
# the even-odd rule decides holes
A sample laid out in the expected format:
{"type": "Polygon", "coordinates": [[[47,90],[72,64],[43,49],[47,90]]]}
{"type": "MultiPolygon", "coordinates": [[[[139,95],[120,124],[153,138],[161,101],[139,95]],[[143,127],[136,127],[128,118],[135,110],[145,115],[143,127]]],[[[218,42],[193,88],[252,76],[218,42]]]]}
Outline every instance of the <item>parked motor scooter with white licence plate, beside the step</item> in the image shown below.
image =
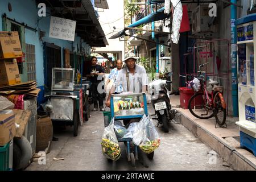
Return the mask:
{"type": "MultiPolygon", "coordinates": [[[[172,72],[169,74],[172,75],[172,72]]],[[[153,80],[148,84],[148,91],[151,95],[151,104],[154,107],[156,119],[158,120],[158,127],[160,124],[163,124],[163,130],[165,133],[169,132],[168,123],[174,119],[176,110],[172,109],[170,103],[170,92],[166,88],[168,83],[172,81],[157,79],[153,80]]]]}

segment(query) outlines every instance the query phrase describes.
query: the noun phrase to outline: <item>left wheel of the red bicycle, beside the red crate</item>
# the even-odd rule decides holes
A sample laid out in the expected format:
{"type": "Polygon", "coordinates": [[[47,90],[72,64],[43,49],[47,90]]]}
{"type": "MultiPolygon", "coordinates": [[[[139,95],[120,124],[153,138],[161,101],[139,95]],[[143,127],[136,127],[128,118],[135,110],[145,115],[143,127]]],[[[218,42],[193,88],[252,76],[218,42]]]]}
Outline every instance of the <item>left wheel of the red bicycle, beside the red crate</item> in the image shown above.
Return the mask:
{"type": "Polygon", "coordinates": [[[210,106],[204,93],[197,93],[188,102],[188,109],[199,119],[209,119],[214,116],[214,109],[210,106]]]}

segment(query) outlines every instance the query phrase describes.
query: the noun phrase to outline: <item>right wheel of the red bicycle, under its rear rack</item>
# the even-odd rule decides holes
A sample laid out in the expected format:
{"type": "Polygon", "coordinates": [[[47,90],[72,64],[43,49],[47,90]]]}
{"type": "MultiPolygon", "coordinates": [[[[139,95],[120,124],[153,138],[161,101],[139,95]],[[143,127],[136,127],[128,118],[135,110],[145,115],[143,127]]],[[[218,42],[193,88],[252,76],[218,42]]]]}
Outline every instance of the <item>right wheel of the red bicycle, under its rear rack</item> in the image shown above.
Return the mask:
{"type": "Polygon", "coordinates": [[[226,105],[224,98],[222,96],[221,93],[216,94],[215,98],[214,98],[214,102],[216,104],[216,114],[215,114],[215,118],[216,121],[218,123],[218,125],[222,126],[225,124],[226,122],[226,107],[224,108],[222,105],[226,105]],[[221,103],[224,102],[224,103],[221,103]]]}

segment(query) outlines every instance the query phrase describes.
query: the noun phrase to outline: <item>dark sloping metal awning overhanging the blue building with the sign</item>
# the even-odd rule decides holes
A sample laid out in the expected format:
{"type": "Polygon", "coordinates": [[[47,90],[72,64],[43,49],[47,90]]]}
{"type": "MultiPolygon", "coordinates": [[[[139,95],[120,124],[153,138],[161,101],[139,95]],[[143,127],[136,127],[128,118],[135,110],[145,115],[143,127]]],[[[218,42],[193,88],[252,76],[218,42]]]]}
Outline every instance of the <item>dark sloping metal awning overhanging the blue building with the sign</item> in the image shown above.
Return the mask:
{"type": "MultiPolygon", "coordinates": [[[[99,1],[99,0],[97,0],[99,1]]],[[[106,0],[101,0],[106,1],[106,0]]],[[[76,34],[90,47],[106,47],[108,41],[98,20],[94,2],[89,0],[36,0],[45,3],[51,15],[76,21],[76,34]]]]}

